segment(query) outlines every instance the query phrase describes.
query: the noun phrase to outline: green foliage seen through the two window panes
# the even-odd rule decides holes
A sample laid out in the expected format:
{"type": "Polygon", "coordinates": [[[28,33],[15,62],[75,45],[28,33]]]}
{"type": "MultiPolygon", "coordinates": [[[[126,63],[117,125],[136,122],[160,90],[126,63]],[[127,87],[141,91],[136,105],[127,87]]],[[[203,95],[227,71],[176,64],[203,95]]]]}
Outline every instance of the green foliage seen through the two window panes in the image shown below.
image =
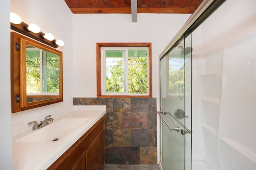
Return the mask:
{"type": "MultiPolygon", "coordinates": [[[[113,60],[114,61],[114,60],[113,60]]],[[[146,94],[148,92],[148,64],[147,58],[128,59],[128,93],[146,94]]],[[[106,91],[124,92],[124,64],[117,61],[110,68],[106,68],[106,91]]]]}

